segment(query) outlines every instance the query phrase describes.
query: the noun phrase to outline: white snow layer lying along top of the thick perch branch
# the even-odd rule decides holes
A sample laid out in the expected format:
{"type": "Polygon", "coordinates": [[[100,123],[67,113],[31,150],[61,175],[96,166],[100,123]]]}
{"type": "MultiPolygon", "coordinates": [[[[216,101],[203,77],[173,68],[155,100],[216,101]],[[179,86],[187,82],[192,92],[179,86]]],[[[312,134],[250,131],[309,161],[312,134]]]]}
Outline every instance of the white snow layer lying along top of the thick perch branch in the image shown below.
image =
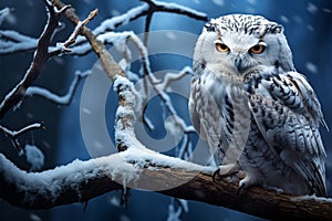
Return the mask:
{"type": "MultiPolygon", "coordinates": [[[[90,179],[95,179],[104,175],[124,187],[129,186],[137,188],[137,180],[142,178],[142,168],[146,166],[152,170],[157,169],[156,166],[160,166],[181,168],[189,171],[197,171],[197,173],[205,168],[148,149],[128,148],[118,154],[90,159],[87,161],[76,159],[66,166],[60,166],[52,170],[28,173],[20,170],[0,154],[1,177],[8,182],[15,183],[19,191],[25,193],[24,201],[27,203],[32,202],[34,200],[33,196],[35,194],[48,196],[55,200],[60,197],[64,188],[75,190],[80,185],[90,179]],[[30,194],[31,192],[33,193],[30,194]]],[[[77,196],[80,194],[77,191],[77,196]]]]}

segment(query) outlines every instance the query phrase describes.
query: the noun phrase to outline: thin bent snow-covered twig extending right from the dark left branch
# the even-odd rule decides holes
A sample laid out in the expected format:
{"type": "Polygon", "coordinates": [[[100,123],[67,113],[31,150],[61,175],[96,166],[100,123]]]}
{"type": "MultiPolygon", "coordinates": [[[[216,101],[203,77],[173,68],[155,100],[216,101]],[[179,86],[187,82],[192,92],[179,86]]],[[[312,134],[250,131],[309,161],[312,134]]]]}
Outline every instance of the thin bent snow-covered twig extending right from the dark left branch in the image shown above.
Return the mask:
{"type": "Polygon", "coordinates": [[[45,99],[49,99],[50,102],[53,102],[54,104],[69,105],[75,95],[75,91],[79,86],[80,81],[86,77],[90,74],[90,72],[91,72],[90,70],[85,72],[77,71],[65,95],[61,96],[43,87],[30,86],[25,92],[25,96],[40,96],[45,99]]]}

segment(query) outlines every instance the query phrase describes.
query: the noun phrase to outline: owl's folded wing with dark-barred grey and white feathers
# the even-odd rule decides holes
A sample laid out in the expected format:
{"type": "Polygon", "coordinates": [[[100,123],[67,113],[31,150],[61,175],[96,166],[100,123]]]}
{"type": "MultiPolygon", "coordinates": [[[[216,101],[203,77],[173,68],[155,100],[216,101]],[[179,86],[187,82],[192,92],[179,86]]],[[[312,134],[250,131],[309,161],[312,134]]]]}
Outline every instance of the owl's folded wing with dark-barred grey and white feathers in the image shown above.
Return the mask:
{"type": "Polygon", "coordinates": [[[326,196],[320,103],[304,76],[267,70],[246,76],[250,112],[268,145],[318,196],[326,196]]]}

